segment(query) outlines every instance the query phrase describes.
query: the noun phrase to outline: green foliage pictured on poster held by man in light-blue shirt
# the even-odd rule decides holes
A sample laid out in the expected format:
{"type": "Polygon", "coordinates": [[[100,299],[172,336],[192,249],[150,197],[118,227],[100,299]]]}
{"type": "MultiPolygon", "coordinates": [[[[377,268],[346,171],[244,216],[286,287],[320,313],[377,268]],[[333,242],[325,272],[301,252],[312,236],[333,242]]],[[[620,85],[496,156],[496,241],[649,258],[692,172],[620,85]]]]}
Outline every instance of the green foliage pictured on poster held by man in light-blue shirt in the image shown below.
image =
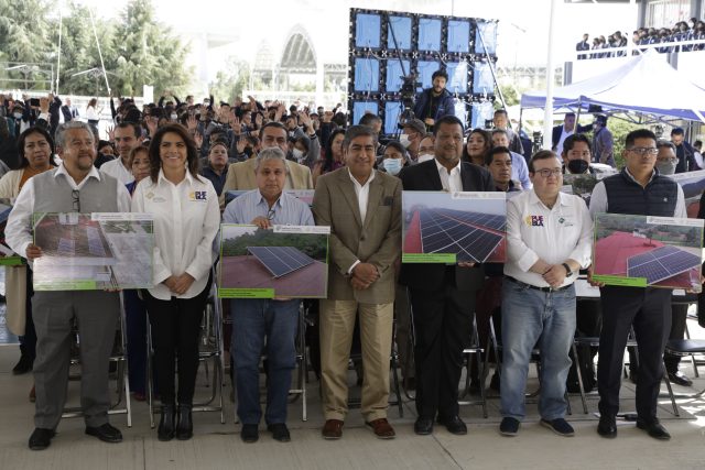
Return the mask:
{"type": "Polygon", "coordinates": [[[318,261],[326,261],[327,238],[314,233],[274,233],[273,230],[257,229],[254,233],[246,233],[223,241],[223,256],[241,256],[248,254],[248,247],[295,247],[303,253],[318,261]]]}

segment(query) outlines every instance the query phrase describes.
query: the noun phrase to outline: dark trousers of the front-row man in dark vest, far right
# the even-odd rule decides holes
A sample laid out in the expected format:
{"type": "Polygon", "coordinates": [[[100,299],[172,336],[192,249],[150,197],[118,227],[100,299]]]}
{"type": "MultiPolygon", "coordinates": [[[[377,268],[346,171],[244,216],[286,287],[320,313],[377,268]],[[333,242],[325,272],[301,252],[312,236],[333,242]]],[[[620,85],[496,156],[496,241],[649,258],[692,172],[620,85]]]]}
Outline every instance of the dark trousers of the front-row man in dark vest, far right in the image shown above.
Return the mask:
{"type": "Polygon", "coordinates": [[[625,347],[633,325],[639,349],[637,414],[649,420],[657,416],[663,378],[663,350],[671,331],[671,289],[607,286],[600,288],[603,329],[599,336],[597,384],[600,414],[619,411],[619,387],[625,347]]]}

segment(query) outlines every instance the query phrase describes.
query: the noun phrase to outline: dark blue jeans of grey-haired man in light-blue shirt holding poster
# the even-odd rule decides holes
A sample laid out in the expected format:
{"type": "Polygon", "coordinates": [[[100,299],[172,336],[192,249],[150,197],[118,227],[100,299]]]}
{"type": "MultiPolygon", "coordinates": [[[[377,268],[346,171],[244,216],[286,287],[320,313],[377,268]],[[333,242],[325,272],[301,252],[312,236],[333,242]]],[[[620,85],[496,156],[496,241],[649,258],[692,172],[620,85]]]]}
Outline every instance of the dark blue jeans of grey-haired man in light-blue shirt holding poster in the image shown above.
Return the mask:
{"type": "Polygon", "coordinates": [[[234,299],[232,345],[238,392],[238,417],[242,424],[259,424],[260,358],[267,338],[267,424],[286,422],[291,373],[296,365],[299,299],[234,299]]]}

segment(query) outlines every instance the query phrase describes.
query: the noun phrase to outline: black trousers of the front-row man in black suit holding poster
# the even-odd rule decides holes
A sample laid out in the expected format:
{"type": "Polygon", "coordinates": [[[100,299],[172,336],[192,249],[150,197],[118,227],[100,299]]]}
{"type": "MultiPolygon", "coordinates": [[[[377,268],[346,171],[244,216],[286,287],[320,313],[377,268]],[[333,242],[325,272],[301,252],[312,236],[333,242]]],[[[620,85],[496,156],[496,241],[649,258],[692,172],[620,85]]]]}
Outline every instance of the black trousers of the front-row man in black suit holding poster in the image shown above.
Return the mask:
{"type": "Polygon", "coordinates": [[[458,414],[463,349],[470,345],[475,291],[447,285],[410,289],[416,345],[416,413],[449,418],[458,414]]]}

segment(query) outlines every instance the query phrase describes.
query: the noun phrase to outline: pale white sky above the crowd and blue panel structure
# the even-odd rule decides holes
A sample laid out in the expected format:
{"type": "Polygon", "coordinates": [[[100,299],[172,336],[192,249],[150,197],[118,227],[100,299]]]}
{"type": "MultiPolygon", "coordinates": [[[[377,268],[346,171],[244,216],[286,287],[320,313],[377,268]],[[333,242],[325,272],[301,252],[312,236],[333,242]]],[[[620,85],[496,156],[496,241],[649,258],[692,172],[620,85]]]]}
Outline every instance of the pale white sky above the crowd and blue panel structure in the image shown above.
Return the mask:
{"type": "MultiPolygon", "coordinates": [[[[127,0],[78,1],[94,7],[98,15],[105,18],[117,17],[127,4],[127,0]]],[[[209,32],[234,40],[230,46],[208,53],[206,66],[210,77],[229,55],[253,62],[262,41],[267,41],[279,57],[286,34],[295,24],[311,33],[314,50],[324,62],[345,63],[351,7],[497,19],[500,65],[545,65],[547,56],[550,0],[153,0],[153,4],[158,20],[174,31],[209,32]]],[[[637,23],[636,6],[630,4],[558,1],[555,15],[556,63],[574,51],[583,33],[593,36],[617,30],[631,32],[637,23]]]]}

